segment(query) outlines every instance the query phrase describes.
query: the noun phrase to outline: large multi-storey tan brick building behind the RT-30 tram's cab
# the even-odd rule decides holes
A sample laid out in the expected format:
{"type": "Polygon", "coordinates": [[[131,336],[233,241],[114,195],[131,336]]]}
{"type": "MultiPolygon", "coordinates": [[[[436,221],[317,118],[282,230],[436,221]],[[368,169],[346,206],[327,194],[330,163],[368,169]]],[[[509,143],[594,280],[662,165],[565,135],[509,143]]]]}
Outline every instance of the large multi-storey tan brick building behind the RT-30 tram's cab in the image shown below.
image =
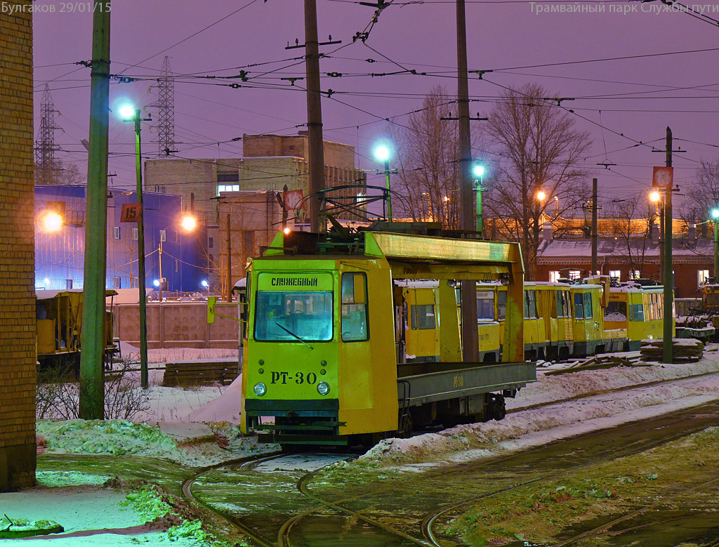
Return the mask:
{"type": "MultiPolygon", "coordinates": [[[[221,292],[226,279],[227,214],[230,215],[230,262],[233,282],[244,277],[248,256],[259,253],[282,226],[276,198],[287,186],[308,195],[308,135],[243,135],[244,157],[184,160],[166,158],[145,162],[145,188],[177,193],[207,226],[206,255],[210,283],[221,292]],[[254,194],[254,196],[252,196],[254,194]]],[[[367,175],[354,167],[354,147],[324,142],[325,186],[365,185],[367,175]]],[[[357,198],[356,189],[342,195],[357,198]]],[[[288,226],[303,229],[307,219],[288,226]]],[[[341,219],[357,220],[339,215],[341,219]]]]}

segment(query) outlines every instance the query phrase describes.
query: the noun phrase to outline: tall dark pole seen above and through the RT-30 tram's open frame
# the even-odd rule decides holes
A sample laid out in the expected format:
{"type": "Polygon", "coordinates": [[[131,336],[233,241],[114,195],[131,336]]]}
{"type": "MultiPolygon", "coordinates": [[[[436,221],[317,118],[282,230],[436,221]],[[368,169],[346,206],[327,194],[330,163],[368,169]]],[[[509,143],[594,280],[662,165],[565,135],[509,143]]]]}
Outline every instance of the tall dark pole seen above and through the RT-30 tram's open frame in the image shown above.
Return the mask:
{"type": "MultiPolygon", "coordinates": [[[[464,0],[457,0],[457,117],[459,117],[459,170],[462,230],[475,229],[474,188],[472,174],[472,141],[470,137],[470,91],[467,82],[467,19],[464,0]]],[[[513,280],[518,282],[519,280],[513,280]]],[[[462,359],[476,361],[480,348],[477,341],[477,285],[462,280],[462,359]]]]}

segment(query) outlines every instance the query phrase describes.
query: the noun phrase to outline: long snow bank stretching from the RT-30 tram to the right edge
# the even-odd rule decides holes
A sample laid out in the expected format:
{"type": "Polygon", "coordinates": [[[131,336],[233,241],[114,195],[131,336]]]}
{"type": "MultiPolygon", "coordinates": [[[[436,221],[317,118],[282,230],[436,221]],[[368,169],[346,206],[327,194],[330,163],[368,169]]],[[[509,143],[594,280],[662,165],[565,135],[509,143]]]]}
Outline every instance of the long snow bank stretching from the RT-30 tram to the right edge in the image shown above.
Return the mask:
{"type": "MultiPolygon", "coordinates": [[[[718,357],[713,354],[713,359],[718,357]]],[[[719,362],[707,359],[687,365],[622,367],[556,376],[539,374],[539,382],[526,387],[518,400],[512,401],[516,412],[501,421],[457,426],[408,439],[386,439],[360,456],[358,461],[406,465],[424,459],[457,462],[497,456],[505,451],[539,446],[585,431],[688,408],[719,397],[719,378],[692,378],[702,372],[719,372],[719,362]],[[603,393],[613,387],[681,377],[687,377],[681,385],[639,387],[620,396],[603,393]],[[592,392],[597,395],[521,410],[523,406],[592,392]]]]}

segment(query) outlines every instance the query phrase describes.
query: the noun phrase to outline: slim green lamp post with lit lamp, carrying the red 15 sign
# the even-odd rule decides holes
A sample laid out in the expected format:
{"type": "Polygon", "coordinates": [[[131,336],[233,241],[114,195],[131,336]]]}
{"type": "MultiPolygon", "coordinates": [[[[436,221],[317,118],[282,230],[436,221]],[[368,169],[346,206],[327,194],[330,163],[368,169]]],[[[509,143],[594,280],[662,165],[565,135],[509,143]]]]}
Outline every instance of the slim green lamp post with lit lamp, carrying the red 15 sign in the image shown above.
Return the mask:
{"type": "Polygon", "coordinates": [[[140,122],[150,121],[142,118],[142,111],[125,105],[120,109],[122,121],[132,121],[135,132],[135,175],[137,178],[137,281],[139,289],[139,377],[142,389],[150,387],[147,375],[147,291],[145,290],[145,223],[142,221],[142,142],[140,141],[140,122]]]}

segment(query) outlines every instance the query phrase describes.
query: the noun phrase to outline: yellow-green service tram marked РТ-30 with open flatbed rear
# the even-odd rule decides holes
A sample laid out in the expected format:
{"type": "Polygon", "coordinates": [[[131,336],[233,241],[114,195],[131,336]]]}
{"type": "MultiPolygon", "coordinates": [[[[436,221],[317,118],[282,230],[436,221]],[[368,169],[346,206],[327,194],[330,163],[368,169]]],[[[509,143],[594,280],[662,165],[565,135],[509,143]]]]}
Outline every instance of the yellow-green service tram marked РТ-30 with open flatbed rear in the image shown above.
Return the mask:
{"type": "Polygon", "coordinates": [[[247,266],[242,431],[283,445],[343,445],[502,418],[504,397],[536,380],[521,343],[522,279],[514,243],[278,234],[247,266]],[[509,283],[504,362],[464,362],[457,280],[500,277],[509,283]],[[436,286],[408,292],[395,280],[436,286]],[[433,334],[412,339],[408,325],[433,334]],[[434,362],[407,362],[407,344],[423,344],[434,362]]]}

